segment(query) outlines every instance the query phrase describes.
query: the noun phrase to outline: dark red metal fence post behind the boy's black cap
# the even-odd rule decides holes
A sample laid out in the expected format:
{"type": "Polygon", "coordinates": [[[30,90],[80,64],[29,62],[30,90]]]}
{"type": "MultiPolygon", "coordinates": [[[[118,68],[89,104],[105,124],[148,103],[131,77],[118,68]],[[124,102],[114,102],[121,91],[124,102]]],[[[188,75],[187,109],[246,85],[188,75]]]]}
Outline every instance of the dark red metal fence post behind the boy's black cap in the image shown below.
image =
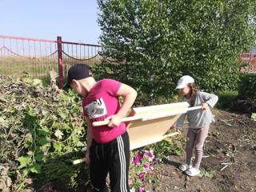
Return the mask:
{"type": "Polygon", "coordinates": [[[58,88],[63,87],[63,60],[62,60],[62,37],[57,37],[58,45],[58,88]]]}

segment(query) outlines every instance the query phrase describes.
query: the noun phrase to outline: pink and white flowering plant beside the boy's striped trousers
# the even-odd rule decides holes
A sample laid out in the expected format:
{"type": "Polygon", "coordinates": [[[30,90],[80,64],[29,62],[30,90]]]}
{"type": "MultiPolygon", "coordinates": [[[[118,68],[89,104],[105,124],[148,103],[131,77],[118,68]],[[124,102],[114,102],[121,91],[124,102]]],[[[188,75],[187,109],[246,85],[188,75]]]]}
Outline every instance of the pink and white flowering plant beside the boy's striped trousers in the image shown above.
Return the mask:
{"type": "Polygon", "coordinates": [[[156,162],[151,150],[136,151],[131,156],[129,184],[132,191],[146,191],[143,182],[154,180],[154,165],[156,162]]]}

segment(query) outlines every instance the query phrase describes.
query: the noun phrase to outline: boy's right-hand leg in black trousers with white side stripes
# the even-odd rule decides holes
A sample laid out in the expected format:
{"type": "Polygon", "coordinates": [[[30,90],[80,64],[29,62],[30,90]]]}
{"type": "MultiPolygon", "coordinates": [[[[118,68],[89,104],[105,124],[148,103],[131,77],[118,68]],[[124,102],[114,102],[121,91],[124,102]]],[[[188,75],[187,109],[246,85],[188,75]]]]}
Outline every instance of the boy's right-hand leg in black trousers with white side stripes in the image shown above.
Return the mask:
{"type": "Polygon", "coordinates": [[[111,192],[129,192],[130,142],[128,133],[119,136],[112,144],[109,159],[111,192]]]}

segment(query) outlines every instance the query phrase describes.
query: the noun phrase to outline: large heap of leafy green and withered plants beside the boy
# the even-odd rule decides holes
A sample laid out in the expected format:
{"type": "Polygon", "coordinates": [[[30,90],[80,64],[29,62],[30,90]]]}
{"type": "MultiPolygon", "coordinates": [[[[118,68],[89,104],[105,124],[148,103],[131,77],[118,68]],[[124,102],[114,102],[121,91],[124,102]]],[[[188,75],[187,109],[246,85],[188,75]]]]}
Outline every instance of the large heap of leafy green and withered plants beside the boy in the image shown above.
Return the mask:
{"type": "Polygon", "coordinates": [[[10,188],[86,187],[88,169],[71,164],[86,146],[81,99],[58,90],[54,79],[44,87],[39,80],[0,77],[0,92],[0,166],[8,170],[10,188]]]}

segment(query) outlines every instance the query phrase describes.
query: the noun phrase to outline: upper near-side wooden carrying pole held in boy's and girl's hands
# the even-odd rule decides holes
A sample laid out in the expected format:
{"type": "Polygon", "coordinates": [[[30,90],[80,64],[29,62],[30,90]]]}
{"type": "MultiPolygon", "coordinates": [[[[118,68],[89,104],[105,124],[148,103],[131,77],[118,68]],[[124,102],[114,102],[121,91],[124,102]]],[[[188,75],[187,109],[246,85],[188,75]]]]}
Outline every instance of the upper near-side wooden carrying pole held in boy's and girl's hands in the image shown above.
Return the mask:
{"type": "MultiPolygon", "coordinates": [[[[162,113],[162,114],[153,114],[153,115],[141,115],[141,116],[132,116],[132,117],[127,117],[127,118],[122,118],[122,122],[130,122],[130,121],[134,121],[134,120],[138,120],[138,119],[142,119],[142,121],[147,121],[147,120],[151,120],[151,119],[155,119],[155,118],[165,118],[171,115],[175,115],[175,114],[185,114],[187,111],[190,110],[198,110],[201,109],[202,106],[193,106],[190,108],[187,108],[185,110],[176,110],[176,111],[172,111],[172,112],[168,112],[168,113],[162,113]]],[[[104,121],[100,121],[100,122],[93,122],[93,126],[104,126],[107,125],[110,122],[110,120],[104,120],[104,121]]]]}

